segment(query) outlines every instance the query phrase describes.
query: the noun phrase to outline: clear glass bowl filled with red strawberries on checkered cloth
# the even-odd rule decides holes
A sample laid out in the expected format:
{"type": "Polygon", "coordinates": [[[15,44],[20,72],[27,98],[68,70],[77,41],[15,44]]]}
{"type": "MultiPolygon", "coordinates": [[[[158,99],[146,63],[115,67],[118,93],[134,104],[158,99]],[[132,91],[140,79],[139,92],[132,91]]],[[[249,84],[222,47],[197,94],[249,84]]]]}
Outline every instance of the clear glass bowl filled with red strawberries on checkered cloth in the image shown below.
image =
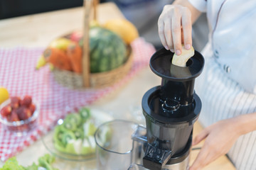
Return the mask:
{"type": "Polygon", "coordinates": [[[31,96],[11,96],[0,105],[0,122],[4,130],[25,135],[36,128],[39,106],[31,96]]]}

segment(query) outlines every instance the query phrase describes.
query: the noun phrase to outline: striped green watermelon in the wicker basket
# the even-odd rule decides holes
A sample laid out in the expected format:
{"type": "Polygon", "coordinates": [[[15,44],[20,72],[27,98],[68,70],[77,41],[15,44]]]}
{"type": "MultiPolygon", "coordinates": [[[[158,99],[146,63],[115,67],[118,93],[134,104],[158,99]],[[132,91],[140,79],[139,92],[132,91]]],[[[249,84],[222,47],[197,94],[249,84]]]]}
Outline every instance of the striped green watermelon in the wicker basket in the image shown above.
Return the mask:
{"type": "Polygon", "coordinates": [[[127,60],[126,45],[116,33],[102,27],[93,27],[90,28],[89,36],[90,72],[107,72],[127,60]]]}

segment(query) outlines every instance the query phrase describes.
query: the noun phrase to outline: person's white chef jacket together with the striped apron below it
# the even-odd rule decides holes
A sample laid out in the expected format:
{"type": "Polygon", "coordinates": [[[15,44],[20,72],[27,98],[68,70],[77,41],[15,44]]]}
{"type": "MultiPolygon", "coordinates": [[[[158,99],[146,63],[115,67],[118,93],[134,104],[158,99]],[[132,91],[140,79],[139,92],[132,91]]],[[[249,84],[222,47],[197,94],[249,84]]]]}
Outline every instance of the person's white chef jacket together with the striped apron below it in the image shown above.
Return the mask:
{"type": "MultiPolygon", "coordinates": [[[[209,42],[206,63],[196,79],[200,123],[256,112],[256,0],[188,0],[206,11],[209,42]]],[[[256,131],[242,135],[228,152],[238,170],[256,169],[256,131]]]]}

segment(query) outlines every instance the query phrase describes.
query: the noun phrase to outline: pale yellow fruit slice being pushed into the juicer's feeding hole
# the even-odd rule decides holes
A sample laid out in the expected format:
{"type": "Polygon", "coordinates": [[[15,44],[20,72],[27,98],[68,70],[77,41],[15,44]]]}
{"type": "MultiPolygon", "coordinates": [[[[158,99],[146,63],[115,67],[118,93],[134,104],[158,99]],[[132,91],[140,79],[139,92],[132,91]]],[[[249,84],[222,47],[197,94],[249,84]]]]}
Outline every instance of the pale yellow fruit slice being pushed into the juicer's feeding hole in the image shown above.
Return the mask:
{"type": "Polygon", "coordinates": [[[193,49],[193,47],[191,47],[191,49],[189,50],[186,50],[184,45],[182,45],[181,55],[174,54],[171,64],[174,64],[179,67],[186,67],[186,62],[188,61],[188,59],[193,57],[194,54],[195,54],[195,50],[193,49]]]}

